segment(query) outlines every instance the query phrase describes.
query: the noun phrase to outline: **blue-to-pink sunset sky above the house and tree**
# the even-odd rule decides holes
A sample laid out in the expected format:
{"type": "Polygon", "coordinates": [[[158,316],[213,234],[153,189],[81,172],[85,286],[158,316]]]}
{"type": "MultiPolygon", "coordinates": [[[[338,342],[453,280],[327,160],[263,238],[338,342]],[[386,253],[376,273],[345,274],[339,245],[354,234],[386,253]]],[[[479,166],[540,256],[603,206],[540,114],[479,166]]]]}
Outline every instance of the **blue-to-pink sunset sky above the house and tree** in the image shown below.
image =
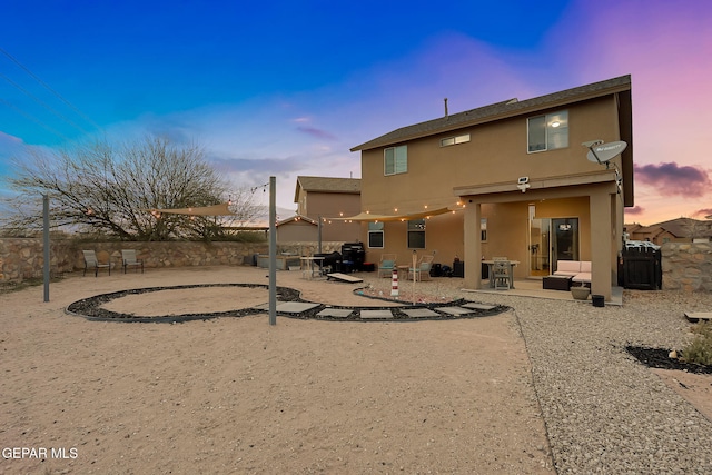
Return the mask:
{"type": "Polygon", "coordinates": [[[630,73],[625,220],[704,218],[711,26],[702,0],[6,0],[0,175],[27,146],[156,133],[200,142],[235,187],[276,176],[294,210],[298,175],[358,178],[349,148],[443,98],[455,113],[630,73]]]}

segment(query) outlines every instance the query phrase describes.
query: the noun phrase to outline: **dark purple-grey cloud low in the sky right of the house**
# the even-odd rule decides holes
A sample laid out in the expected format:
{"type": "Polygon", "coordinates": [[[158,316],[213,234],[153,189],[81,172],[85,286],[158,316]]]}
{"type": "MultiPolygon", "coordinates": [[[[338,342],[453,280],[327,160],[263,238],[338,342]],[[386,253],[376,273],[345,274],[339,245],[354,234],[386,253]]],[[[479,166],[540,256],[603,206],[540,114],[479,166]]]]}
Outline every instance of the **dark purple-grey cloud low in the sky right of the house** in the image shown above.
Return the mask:
{"type": "Polygon", "coordinates": [[[710,192],[712,179],[702,168],[679,166],[672,161],[660,165],[635,165],[635,180],[655,187],[661,196],[702,197],[710,192]]]}

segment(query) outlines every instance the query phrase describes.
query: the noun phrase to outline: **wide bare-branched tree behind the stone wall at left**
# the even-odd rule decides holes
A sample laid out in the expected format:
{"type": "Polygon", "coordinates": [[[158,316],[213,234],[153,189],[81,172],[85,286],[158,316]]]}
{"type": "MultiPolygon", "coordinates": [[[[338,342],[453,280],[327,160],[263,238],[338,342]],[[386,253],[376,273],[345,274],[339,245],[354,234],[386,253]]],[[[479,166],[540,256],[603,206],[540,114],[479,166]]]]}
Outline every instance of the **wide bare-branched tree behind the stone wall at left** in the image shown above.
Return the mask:
{"type": "MultiPolygon", "coordinates": [[[[148,136],[118,147],[95,142],[59,151],[32,148],[16,159],[16,166],[17,175],[9,179],[18,192],[16,212],[4,219],[6,228],[40,227],[39,202],[42,195],[49,195],[52,224],[58,228],[123,240],[210,239],[221,234],[218,217],[147,211],[209,206],[226,199],[226,184],[197,145],[176,146],[148,136]]],[[[251,207],[249,200],[233,205],[247,215],[251,207]]]]}

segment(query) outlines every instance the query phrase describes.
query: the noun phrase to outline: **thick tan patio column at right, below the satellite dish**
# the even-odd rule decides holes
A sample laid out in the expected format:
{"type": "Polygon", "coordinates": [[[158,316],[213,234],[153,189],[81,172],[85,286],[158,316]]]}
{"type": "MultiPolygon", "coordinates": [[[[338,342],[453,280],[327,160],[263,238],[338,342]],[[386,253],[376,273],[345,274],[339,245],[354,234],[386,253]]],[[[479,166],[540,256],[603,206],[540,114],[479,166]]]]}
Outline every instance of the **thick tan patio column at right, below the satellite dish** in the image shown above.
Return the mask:
{"type": "Polygon", "coordinates": [[[611,195],[605,190],[593,191],[589,198],[591,208],[591,295],[602,295],[611,300],[611,253],[613,251],[613,220],[611,195]]]}

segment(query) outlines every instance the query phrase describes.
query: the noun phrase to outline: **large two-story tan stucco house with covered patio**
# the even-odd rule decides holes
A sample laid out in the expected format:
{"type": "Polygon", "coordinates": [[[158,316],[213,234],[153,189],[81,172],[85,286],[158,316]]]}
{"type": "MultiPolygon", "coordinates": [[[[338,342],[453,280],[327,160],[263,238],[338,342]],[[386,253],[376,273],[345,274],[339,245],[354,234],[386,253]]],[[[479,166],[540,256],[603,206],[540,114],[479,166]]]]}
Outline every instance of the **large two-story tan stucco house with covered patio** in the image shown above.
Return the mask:
{"type": "Polygon", "coordinates": [[[445,115],[352,151],[362,154],[355,219],[368,260],[457,256],[467,288],[479,288],[483,258],[517,260],[518,279],[586,260],[592,293],[611,298],[623,208],[633,206],[630,76],[445,115]],[[592,140],[627,148],[600,164],[582,146],[592,140]]]}

